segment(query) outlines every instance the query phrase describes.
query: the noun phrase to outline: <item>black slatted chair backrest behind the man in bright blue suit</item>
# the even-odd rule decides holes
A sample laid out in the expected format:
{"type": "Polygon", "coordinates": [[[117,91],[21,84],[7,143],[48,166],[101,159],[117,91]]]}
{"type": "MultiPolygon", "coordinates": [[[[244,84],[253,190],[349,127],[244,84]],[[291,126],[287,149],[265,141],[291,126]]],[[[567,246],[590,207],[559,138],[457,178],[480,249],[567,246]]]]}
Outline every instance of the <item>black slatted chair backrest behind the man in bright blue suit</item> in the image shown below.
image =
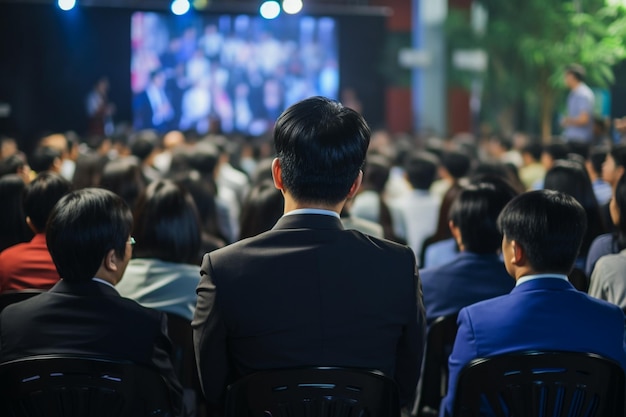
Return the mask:
{"type": "Polygon", "coordinates": [[[521,352],[475,359],[459,374],[454,416],[483,415],[623,416],[624,371],[592,353],[521,352]]]}

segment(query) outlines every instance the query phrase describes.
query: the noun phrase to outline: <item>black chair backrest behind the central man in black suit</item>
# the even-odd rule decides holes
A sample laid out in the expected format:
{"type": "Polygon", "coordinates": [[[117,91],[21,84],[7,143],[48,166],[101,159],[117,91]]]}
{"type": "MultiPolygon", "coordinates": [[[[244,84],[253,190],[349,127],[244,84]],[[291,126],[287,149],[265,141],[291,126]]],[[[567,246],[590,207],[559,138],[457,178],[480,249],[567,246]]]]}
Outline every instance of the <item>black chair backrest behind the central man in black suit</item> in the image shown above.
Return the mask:
{"type": "Polygon", "coordinates": [[[398,387],[378,371],[261,371],[228,387],[225,417],[399,417],[398,387]]]}

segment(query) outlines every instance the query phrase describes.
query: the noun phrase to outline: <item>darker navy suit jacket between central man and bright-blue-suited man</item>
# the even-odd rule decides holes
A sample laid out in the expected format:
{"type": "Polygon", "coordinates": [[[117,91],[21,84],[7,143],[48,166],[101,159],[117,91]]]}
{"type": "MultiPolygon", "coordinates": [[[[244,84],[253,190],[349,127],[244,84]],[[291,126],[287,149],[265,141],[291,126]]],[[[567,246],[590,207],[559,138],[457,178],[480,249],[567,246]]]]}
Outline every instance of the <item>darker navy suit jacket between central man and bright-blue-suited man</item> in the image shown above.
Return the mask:
{"type": "Polygon", "coordinates": [[[445,265],[420,271],[428,323],[463,307],[508,294],[515,280],[494,254],[461,252],[445,265]]]}

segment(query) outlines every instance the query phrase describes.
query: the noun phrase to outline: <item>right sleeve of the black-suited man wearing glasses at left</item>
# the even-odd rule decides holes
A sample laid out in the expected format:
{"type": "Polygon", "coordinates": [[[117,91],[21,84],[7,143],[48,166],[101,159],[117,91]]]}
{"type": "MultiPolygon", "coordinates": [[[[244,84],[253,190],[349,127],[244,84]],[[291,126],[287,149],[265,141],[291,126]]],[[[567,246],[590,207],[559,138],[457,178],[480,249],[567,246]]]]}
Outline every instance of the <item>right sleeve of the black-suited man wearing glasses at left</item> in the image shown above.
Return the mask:
{"type": "Polygon", "coordinates": [[[167,315],[160,313],[160,334],[156,338],[152,353],[152,363],[159,369],[170,392],[170,399],[176,416],[183,415],[183,388],[172,365],[172,342],[167,334],[167,315]]]}

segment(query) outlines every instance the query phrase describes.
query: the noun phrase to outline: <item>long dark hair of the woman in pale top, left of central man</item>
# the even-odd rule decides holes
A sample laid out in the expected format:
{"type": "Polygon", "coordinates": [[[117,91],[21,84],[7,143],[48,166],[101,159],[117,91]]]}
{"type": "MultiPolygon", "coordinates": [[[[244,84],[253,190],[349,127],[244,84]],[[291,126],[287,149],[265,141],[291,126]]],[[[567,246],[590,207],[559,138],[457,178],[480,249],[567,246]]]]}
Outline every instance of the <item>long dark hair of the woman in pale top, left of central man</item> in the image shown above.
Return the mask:
{"type": "Polygon", "coordinates": [[[202,226],[191,194],[172,180],[148,185],[133,211],[137,241],[134,258],[166,262],[200,262],[202,226]]]}

